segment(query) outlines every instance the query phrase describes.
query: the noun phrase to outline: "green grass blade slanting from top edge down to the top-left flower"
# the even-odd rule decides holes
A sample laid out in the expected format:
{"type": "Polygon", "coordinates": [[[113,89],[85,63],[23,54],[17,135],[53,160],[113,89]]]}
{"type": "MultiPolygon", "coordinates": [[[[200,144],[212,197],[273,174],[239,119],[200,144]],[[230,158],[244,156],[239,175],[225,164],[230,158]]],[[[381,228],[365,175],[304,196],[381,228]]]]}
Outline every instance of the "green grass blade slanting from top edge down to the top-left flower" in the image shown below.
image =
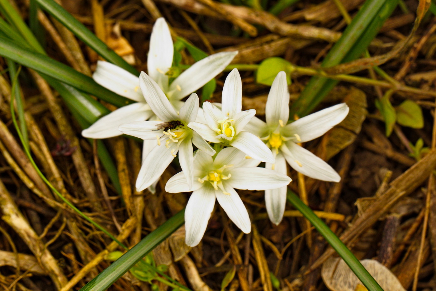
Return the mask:
{"type": "MultiPolygon", "coordinates": [[[[5,0],[3,0],[5,1],[5,0]]],[[[103,58],[106,58],[109,62],[131,72],[134,75],[139,76],[139,72],[136,68],[129,65],[123,58],[112,51],[108,46],[95,36],[88,28],[85,27],[80,21],[75,19],[68,13],[61,5],[53,0],[35,0],[39,3],[40,7],[47,11],[51,16],[56,18],[61,24],[65,25],[70,31],[72,31],[78,38],[80,38],[85,44],[89,45],[103,58]]]]}

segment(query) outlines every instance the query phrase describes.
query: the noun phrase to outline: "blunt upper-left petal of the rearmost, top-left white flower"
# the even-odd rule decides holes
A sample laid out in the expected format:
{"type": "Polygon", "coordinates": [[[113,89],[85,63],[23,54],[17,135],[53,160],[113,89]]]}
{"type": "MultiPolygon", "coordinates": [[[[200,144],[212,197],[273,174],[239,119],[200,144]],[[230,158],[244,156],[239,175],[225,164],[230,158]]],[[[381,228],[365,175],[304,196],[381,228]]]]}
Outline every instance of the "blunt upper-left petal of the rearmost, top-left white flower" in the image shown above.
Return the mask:
{"type": "Polygon", "coordinates": [[[118,95],[136,102],[144,102],[144,97],[139,89],[139,78],[117,65],[98,61],[92,79],[118,95]]]}

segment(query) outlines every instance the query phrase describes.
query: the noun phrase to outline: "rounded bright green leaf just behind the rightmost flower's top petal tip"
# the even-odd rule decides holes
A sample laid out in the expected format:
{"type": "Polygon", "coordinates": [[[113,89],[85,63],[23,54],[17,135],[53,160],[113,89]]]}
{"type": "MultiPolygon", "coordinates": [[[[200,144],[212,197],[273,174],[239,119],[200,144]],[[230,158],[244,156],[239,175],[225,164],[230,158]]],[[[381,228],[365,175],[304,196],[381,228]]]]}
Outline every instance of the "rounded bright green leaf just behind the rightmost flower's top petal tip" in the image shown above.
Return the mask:
{"type": "Polygon", "coordinates": [[[271,86],[272,82],[276,78],[276,75],[281,72],[286,72],[286,79],[288,85],[291,84],[290,72],[292,71],[292,64],[283,58],[272,57],[263,60],[256,73],[256,82],[259,84],[271,86]]]}

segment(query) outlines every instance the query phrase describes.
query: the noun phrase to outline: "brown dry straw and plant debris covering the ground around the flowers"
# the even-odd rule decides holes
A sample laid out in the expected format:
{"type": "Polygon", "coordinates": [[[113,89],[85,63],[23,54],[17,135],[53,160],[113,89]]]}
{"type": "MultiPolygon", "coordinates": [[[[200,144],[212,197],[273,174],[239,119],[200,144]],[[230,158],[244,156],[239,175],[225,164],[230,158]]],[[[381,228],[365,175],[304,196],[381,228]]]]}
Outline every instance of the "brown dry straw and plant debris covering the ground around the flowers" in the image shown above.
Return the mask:
{"type": "MultiPolygon", "coordinates": [[[[28,21],[32,1],[10,2],[28,21]]],[[[58,2],[138,71],[146,71],[150,33],[158,17],[166,19],[174,41],[184,38],[208,54],[239,51],[230,66],[241,73],[242,106],[255,108],[261,118],[269,86],[257,82],[256,70],[265,59],[279,57],[274,64],[289,69],[291,104],[311,76],[341,81],[317,110],[344,102],[349,115],[324,137],[303,144],[328,161],[341,181],[314,180],[288,167],[293,179],[288,187],[376,280],[383,277],[385,291],[435,290],[436,22],[434,5],[425,15],[420,13],[426,7],[419,8],[429,1],[400,1],[371,41],[369,56],[330,68],[321,68],[320,62],[363,0],[288,1],[295,3],[278,15],[256,5],[272,7],[283,1],[58,2]],[[412,29],[417,17],[420,25],[412,29]]],[[[48,55],[92,75],[102,58],[53,17],[41,10],[35,15],[35,31],[48,55]]],[[[178,53],[181,65],[197,61],[186,45],[178,53]]],[[[11,122],[14,80],[6,58],[0,58],[0,68],[0,289],[78,290],[122,249],[55,198],[37,174],[11,122]]],[[[209,101],[221,102],[227,74],[215,78],[217,89],[209,101]]],[[[75,113],[58,92],[27,68],[22,68],[19,83],[28,144],[38,167],[58,192],[120,242],[134,246],[186,206],[190,193],[164,190],[180,171],[177,163],[164,172],[155,194],[136,191],[142,145],[126,136],[104,140],[116,164],[115,185],[97,156],[97,142],[81,136],[75,113]]],[[[263,191],[239,194],[251,216],[251,233],[242,233],[217,204],[201,243],[187,246],[181,227],[151,252],[155,267],[194,291],[365,290],[291,205],[276,226],[269,222],[263,191]]],[[[123,275],[110,290],[152,290],[133,274],[123,275]]],[[[159,290],[174,287],[159,280],[153,284],[159,290]]]]}

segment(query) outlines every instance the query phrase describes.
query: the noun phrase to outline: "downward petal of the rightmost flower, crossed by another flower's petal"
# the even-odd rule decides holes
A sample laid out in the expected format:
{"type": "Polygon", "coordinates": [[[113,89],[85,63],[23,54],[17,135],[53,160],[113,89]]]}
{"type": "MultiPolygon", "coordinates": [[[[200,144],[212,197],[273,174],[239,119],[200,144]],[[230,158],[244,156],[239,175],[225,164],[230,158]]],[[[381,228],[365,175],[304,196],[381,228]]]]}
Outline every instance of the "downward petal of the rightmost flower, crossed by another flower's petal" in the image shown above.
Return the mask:
{"type": "MultiPolygon", "coordinates": [[[[272,164],[266,163],[265,168],[271,169],[272,164]]],[[[276,156],[274,170],[283,175],[287,175],[286,160],[280,153],[276,156]]],[[[266,212],[268,212],[269,220],[275,225],[278,225],[283,219],[287,189],[287,186],[283,186],[276,189],[265,190],[266,212]]]]}

